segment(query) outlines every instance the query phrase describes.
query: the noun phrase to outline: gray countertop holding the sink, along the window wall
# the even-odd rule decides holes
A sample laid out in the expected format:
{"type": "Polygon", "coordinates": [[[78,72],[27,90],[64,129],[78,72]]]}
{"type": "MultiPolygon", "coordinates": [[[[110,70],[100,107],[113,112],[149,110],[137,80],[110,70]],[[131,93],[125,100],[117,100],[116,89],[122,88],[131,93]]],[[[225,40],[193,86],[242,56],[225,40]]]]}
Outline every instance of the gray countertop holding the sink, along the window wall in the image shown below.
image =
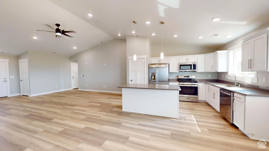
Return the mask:
{"type": "MultiPolygon", "coordinates": [[[[200,82],[200,83],[206,83],[206,84],[210,84],[213,85],[215,87],[218,87],[216,85],[230,85],[230,84],[226,84],[226,83],[221,83],[221,82],[200,82]]],[[[234,86],[234,85],[231,85],[234,86]]],[[[241,88],[240,90],[231,90],[231,87],[228,88],[223,88],[223,87],[218,87],[218,88],[222,88],[222,89],[226,89],[228,91],[232,91],[241,95],[246,95],[246,96],[264,96],[264,97],[269,97],[269,92],[266,91],[261,91],[261,90],[257,90],[257,89],[251,89],[251,88],[246,88],[246,87],[239,87],[241,88]]]]}

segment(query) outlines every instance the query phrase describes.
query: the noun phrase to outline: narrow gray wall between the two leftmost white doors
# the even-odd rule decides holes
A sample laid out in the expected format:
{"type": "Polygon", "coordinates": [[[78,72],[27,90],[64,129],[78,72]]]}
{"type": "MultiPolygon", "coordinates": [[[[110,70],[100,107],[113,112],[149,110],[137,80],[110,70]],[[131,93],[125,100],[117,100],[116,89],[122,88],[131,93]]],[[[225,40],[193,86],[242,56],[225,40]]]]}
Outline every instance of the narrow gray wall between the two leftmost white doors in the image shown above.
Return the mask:
{"type": "Polygon", "coordinates": [[[9,68],[9,76],[14,76],[14,78],[9,78],[9,86],[10,86],[10,95],[19,94],[19,61],[17,56],[9,56],[9,55],[0,55],[0,59],[9,59],[8,68],[9,68]]]}

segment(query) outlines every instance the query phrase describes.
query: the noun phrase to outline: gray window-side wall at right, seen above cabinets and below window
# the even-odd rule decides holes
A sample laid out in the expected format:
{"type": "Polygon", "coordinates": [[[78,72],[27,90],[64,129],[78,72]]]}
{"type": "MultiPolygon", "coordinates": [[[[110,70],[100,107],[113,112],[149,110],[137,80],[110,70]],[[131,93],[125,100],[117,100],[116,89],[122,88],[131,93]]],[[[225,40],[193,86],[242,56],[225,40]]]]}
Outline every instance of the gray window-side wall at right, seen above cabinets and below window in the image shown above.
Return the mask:
{"type": "MultiPolygon", "coordinates": [[[[220,48],[218,48],[218,50],[228,50],[228,48],[230,48],[230,47],[232,47],[234,45],[239,44],[238,41],[240,41],[241,39],[244,39],[244,38],[246,38],[246,37],[248,37],[250,35],[253,35],[253,34],[255,34],[255,33],[259,32],[259,31],[261,31],[261,30],[263,30],[265,28],[268,28],[268,27],[269,27],[269,23],[267,23],[267,24],[265,24],[265,25],[263,25],[263,26],[255,29],[255,30],[253,30],[253,31],[251,31],[249,33],[246,33],[245,35],[243,35],[243,36],[241,36],[241,37],[239,37],[239,38],[237,38],[237,39],[229,42],[228,44],[225,44],[224,46],[221,46],[220,48]]],[[[267,59],[269,59],[269,58],[267,58],[267,59]]],[[[218,80],[233,81],[233,80],[227,80],[225,78],[225,75],[227,75],[227,74],[228,74],[228,72],[220,72],[220,73],[218,73],[218,80]],[[224,78],[222,78],[222,75],[224,75],[223,76],[224,78]]],[[[257,83],[253,83],[253,82],[242,82],[242,81],[240,81],[240,83],[248,83],[248,84],[260,85],[260,86],[266,86],[266,87],[269,86],[269,72],[257,72],[257,78],[258,78],[258,82],[257,83]],[[263,82],[263,77],[266,77],[266,82],[263,82]]]]}

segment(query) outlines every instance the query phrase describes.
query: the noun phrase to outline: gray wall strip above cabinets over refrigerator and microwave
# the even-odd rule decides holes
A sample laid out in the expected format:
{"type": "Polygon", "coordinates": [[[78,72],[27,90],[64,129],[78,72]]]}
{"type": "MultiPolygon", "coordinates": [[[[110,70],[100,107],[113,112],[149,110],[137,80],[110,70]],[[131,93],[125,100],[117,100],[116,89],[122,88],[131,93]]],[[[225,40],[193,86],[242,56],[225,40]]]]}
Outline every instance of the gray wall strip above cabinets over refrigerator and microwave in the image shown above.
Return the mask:
{"type": "Polygon", "coordinates": [[[199,55],[217,51],[216,48],[189,46],[189,45],[175,45],[175,44],[161,44],[152,42],[151,57],[160,57],[160,52],[164,51],[164,56],[182,56],[182,55],[199,55]]]}

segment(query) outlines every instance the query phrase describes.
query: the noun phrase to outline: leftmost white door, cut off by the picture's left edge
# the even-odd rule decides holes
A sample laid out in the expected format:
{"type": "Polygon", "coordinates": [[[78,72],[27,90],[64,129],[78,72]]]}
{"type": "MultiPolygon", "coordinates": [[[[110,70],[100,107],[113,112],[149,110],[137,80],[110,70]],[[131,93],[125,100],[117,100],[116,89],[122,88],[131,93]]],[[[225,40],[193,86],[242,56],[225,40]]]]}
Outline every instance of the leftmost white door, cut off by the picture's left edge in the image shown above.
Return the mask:
{"type": "Polygon", "coordinates": [[[0,62],[0,97],[8,96],[6,80],[6,62],[0,62]]]}

